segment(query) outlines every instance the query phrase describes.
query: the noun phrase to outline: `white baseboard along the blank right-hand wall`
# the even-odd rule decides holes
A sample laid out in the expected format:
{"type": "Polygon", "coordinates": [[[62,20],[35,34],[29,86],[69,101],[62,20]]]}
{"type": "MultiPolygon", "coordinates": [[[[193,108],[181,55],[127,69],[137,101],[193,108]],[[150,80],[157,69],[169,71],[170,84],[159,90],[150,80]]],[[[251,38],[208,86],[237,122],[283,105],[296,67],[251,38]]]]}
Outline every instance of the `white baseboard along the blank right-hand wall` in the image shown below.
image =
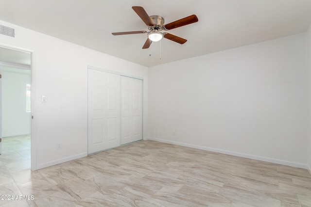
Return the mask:
{"type": "Polygon", "coordinates": [[[226,155],[233,155],[233,156],[242,157],[242,158],[256,159],[256,160],[260,160],[260,161],[282,164],[282,165],[287,165],[287,166],[291,166],[291,167],[298,167],[298,168],[308,169],[309,172],[311,173],[311,169],[308,165],[302,164],[302,163],[297,163],[297,162],[260,157],[260,156],[249,155],[249,154],[244,154],[244,153],[240,153],[240,152],[232,152],[232,151],[210,148],[210,147],[205,147],[205,146],[199,146],[199,145],[194,145],[194,144],[189,144],[189,143],[180,143],[180,142],[175,142],[175,141],[157,139],[157,138],[153,138],[153,137],[144,138],[144,140],[153,140],[153,141],[162,142],[162,143],[171,143],[171,144],[191,147],[191,148],[195,148],[195,149],[202,149],[202,150],[206,150],[206,151],[222,153],[222,154],[226,154],[226,155]]]}

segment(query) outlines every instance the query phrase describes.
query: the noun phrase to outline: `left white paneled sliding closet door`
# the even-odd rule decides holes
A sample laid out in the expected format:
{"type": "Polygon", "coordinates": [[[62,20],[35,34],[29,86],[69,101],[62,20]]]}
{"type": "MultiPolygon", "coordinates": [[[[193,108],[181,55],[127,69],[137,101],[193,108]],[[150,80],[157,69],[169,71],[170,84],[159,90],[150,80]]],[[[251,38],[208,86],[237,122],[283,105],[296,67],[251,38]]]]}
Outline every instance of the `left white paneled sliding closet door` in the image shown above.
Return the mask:
{"type": "Polygon", "coordinates": [[[88,69],[88,154],[120,146],[120,75],[88,69]]]}

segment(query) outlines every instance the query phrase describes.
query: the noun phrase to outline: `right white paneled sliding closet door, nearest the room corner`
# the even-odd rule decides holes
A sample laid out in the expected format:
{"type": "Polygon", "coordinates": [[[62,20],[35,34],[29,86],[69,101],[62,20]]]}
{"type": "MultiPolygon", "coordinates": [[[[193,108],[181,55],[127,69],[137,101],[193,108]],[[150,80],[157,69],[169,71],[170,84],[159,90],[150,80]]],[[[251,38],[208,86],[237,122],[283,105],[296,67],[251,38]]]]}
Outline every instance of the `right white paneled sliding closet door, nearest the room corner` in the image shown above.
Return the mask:
{"type": "Polygon", "coordinates": [[[142,80],[121,76],[121,144],[142,140],[142,80]]]}

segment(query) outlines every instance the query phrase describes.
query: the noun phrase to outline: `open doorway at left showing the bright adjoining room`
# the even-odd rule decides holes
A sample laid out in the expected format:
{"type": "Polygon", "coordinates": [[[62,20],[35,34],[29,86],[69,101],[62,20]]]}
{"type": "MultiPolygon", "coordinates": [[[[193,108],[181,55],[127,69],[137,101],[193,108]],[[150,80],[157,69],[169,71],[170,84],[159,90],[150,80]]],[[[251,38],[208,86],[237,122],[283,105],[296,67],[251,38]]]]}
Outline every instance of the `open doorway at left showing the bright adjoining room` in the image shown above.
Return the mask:
{"type": "Polygon", "coordinates": [[[31,168],[31,53],[0,47],[0,161],[9,173],[31,168]]]}

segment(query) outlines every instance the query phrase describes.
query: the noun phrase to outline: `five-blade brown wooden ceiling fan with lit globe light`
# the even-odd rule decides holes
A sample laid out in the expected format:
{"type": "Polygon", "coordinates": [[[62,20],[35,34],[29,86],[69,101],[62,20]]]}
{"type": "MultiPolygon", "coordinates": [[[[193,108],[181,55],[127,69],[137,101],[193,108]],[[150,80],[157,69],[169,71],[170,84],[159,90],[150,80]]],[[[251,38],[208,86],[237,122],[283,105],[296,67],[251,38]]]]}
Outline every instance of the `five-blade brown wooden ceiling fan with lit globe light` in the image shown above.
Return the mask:
{"type": "Polygon", "coordinates": [[[143,49],[149,48],[152,42],[157,42],[163,37],[169,40],[172,40],[179,44],[184,44],[187,42],[186,39],[175,36],[167,32],[159,31],[168,31],[178,27],[185,26],[187,24],[192,24],[198,21],[198,17],[195,15],[190,15],[185,18],[173,21],[169,24],[164,25],[164,18],[162,16],[148,16],[147,12],[141,6],[133,6],[132,9],[138,14],[142,21],[148,26],[149,32],[146,31],[133,31],[133,32],[113,32],[113,35],[122,35],[122,34],[139,34],[147,33],[147,40],[142,47],[143,49]]]}

